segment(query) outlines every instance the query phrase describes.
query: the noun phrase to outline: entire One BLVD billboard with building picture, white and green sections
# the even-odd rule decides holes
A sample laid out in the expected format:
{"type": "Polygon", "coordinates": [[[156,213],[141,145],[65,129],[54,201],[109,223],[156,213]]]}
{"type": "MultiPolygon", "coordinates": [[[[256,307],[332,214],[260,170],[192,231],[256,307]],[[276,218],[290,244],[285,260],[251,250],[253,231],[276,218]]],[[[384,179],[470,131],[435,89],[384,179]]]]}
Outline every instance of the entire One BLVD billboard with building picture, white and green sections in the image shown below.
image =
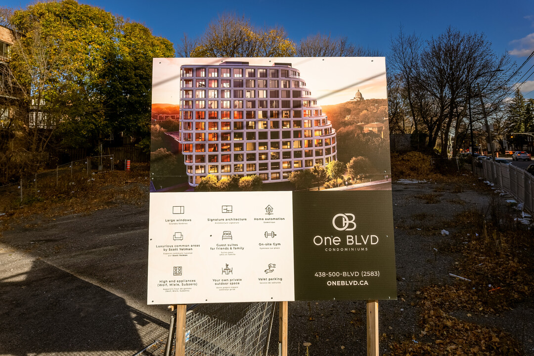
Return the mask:
{"type": "Polygon", "coordinates": [[[396,298],[386,93],[384,58],[154,59],[148,303],[396,298]]]}

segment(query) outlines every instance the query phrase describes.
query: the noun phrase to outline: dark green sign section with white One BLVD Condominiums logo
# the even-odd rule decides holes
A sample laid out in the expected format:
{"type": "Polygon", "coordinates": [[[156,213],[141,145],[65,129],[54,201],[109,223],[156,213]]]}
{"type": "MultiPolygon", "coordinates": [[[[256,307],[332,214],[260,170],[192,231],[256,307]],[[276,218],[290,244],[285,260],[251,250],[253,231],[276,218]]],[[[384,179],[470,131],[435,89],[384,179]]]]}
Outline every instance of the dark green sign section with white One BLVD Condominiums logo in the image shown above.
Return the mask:
{"type": "Polygon", "coordinates": [[[296,300],[396,299],[391,191],[295,192],[293,219],[296,300]]]}

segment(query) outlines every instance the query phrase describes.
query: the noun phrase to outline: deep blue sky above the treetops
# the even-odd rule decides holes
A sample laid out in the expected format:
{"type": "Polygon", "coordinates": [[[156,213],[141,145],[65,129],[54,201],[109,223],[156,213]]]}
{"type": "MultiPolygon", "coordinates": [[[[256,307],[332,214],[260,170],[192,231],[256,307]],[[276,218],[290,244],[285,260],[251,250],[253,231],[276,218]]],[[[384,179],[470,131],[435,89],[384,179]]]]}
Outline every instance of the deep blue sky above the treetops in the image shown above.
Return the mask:
{"type": "MultiPolygon", "coordinates": [[[[380,50],[387,57],[391,37],[399,26],[406,33],[424,39],[438,36],[447,26],[464,32],[484,33],[496,53],[513,54],[521,65],[534,50],[534,1],[510,0],[411,0],[411,1],[336,1],[307,2],[228,0],[163,2],[139,0],[81,0],[124,18],[142,22],[154,35],[178,43],[184,33],[199,36],[208,23],[223,12],[244,15],[256,26],[282,26],[298,42],[318,32],[334,37],[347,36],[351,42],[380,50]]],[[[3,6],[20,8],[30,2],[4,0],[3,6]]],[[[534,58],[523,67],[523,75],[534,58]]],[[[528,77],[534,68],[525,76],[528,77]]],[[[519,80],[516,78],[514,83],[519,80]]],[[[524,80],[524,78],[523,78],[524,80]]],[[[534,75],[521,86],[534,98],[534,75]]]]}

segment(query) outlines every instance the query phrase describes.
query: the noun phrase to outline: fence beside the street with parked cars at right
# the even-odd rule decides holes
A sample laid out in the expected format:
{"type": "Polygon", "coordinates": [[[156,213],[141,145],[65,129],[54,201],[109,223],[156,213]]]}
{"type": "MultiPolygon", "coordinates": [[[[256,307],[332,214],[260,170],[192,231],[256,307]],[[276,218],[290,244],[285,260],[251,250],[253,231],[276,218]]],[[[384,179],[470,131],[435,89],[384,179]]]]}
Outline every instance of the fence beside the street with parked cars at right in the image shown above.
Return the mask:
{"type": "Polygon", "coordinates": [[[534,176],[512,164],[482,160],[481,175],[512,194],[524,209],[534,211],[534,176]]]}

